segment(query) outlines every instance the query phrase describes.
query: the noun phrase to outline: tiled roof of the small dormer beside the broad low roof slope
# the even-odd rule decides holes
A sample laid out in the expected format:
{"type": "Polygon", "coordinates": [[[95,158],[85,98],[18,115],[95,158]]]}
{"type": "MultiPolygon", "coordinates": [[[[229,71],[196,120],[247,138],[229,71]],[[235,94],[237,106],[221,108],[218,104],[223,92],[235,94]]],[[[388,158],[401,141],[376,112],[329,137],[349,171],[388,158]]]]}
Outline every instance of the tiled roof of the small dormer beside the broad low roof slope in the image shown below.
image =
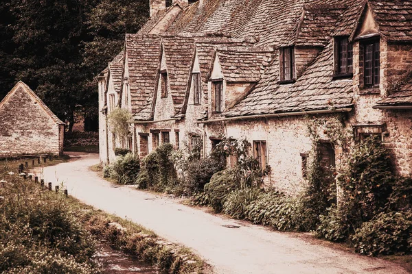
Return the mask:
{"type": "Polygon", "coordinates": [[[216,54],[227,82],[258,82],[272,60],[273,48],[219,47],[216,54]]]}

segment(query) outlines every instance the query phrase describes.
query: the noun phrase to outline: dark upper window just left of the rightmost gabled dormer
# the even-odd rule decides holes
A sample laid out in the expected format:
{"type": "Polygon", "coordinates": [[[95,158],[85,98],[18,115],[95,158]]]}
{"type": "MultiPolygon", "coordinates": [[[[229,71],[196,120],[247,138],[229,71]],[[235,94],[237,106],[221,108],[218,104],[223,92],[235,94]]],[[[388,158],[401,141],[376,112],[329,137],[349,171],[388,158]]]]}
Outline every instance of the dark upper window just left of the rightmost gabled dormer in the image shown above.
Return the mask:
{"type": "Polygon", "coordinates": [[[334,39],[334,73],[335,75],[352,75],[353,47],[347,37],[334,39]]]}

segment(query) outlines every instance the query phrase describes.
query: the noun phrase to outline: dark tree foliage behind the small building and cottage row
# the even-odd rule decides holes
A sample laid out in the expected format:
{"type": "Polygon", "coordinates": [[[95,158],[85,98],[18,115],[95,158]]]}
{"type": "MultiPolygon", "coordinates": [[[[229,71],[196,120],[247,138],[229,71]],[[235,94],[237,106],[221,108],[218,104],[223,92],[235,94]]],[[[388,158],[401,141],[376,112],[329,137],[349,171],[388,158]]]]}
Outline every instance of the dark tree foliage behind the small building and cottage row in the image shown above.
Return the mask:
{"type": "Polygon", "coordinates": [[[144,0],[5,0],[0,3],[0,99],[22,80],[60,119],[98,115],[100,71],[148,16],[144,0]]]}

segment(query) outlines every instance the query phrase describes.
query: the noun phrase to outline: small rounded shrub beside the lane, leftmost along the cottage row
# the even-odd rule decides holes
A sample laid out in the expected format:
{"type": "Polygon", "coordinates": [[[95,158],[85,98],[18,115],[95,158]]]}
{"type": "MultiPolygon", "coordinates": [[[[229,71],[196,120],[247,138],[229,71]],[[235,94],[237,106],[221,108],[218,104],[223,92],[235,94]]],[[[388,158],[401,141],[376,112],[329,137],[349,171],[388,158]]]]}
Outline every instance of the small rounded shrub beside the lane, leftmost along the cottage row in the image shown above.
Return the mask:
{"type": "Polygon", "coordinates": [[[132,153],[117,156],[111,164],[111,177],[119,184],[135,184],[140,171],[140,161],[132,153]]]}

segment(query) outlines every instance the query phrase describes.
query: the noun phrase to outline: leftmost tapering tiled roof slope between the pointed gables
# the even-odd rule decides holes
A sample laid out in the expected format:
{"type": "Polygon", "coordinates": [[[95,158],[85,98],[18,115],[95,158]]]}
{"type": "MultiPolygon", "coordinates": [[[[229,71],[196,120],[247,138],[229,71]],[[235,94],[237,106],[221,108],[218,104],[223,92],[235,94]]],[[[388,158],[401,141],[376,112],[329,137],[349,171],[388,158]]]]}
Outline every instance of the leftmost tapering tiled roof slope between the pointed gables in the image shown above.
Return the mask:
{"type": "Polygon", "coordinates": [[[132,113],[149,120],[160,60],[160,36],[126,34],[132,113]]]}

